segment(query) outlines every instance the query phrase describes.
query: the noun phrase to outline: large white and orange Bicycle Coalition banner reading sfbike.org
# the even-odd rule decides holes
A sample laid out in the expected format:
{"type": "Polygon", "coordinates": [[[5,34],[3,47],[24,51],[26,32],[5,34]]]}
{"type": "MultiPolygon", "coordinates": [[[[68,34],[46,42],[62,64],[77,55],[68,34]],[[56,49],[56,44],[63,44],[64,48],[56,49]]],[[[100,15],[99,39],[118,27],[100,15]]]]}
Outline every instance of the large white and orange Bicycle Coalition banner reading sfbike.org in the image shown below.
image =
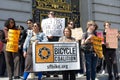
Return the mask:
{"type": "Polygon", "coordinates": [[[77,42],[46,42],[33,44],[33,71],[79,70],[77,42]]]}

